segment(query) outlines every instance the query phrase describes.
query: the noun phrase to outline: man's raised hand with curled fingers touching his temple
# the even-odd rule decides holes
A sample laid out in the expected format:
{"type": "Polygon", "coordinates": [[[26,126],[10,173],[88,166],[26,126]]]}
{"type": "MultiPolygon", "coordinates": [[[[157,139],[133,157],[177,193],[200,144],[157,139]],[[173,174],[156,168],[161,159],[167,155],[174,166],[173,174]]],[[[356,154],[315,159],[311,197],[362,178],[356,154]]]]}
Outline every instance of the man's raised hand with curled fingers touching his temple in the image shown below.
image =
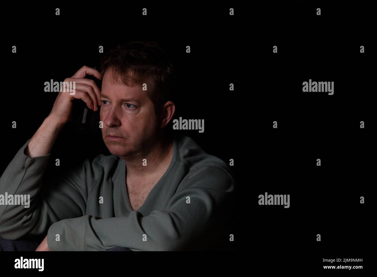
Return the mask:
{"type": "Polygon", "coordinates": [[[60,92],[55,100],[54,106],[49,114],[49,118],[56,124],[64,125],[72,119],[72,102],[74,99],[82,99],[89,109],[98,110],[97,106],[101,106],[100,89],[93,80],[85,79],[86,75],[93,75],[97,79],[100,78],[98,70],[83,66],[71,78],[66,78],[64,82],[75,82],[75,93],[71,95],[68,87],[60,92]]]}

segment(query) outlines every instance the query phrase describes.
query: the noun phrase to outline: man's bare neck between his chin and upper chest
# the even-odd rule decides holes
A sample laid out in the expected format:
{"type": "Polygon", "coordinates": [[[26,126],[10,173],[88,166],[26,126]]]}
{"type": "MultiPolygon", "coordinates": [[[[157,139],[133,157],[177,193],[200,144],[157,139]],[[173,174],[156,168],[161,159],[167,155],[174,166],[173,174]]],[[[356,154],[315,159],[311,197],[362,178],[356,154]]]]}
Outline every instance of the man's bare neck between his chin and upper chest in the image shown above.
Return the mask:
{"type": "Polygon", "coordinates": [[[170,164],[173,156],[173,139],[171,136],[163,136],[151,145],[147,153],[140,154],[137,158],[124,159],[126,162],[127,179],[143,180],[159,175],[159,171],[166,171],[166,165],[170,164]],[[147,166],[143,165],[146,159],[147,166]]]}

